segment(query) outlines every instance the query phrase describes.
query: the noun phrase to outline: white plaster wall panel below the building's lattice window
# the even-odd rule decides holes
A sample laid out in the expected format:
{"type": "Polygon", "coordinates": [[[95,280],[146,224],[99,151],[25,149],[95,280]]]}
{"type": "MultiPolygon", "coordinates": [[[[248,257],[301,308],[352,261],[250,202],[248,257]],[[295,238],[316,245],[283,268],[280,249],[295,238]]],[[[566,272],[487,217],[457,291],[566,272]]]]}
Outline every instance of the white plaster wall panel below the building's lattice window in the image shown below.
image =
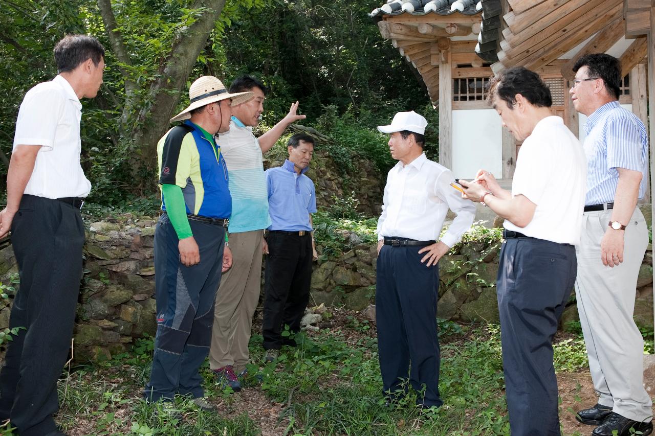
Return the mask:
{"type": "Polygon", "coordinates": [[[502,126],[494,109],[453,111],[453,173],[472,179],[483,168],[502,177],[502,126]]]}

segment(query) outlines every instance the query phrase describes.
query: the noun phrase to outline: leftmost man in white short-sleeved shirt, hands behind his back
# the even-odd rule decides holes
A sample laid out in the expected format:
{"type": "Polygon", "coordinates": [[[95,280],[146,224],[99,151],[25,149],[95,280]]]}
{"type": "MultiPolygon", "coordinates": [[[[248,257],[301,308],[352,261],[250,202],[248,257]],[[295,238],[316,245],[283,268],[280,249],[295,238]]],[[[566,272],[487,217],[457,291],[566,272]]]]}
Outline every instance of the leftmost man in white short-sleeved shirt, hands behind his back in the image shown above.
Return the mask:
{"type": "Polygon", "coordinates": [[[21,436],[64,434],[52,414],[82,278],[80,208],[91,189],[80,165],[80,99],[98,94],[104,56],[92,37],[64,37],[54,47],[59,75],[25,94],[16,120],[0,237],[11,230],[20,271],[9,327],[25,329],[0,372],[0,424],[9,419],[21,436]]]}

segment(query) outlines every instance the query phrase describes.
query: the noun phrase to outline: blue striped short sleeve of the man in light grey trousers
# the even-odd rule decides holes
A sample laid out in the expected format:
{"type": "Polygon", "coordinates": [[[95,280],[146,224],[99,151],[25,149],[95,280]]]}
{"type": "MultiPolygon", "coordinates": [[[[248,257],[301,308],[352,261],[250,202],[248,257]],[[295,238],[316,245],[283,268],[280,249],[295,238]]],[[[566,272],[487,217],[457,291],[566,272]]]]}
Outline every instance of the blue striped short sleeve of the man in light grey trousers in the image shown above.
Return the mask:
{"type": "MultiPolygon", "coordinates": [[[[646,134],[645,128],[643,134],[646,134]]],[[[643,156],[648,142],[642,139],[642,129],[629,117],[611,117],[605,124],[607,170],[625,168],[643,172],[643,156]]]]}

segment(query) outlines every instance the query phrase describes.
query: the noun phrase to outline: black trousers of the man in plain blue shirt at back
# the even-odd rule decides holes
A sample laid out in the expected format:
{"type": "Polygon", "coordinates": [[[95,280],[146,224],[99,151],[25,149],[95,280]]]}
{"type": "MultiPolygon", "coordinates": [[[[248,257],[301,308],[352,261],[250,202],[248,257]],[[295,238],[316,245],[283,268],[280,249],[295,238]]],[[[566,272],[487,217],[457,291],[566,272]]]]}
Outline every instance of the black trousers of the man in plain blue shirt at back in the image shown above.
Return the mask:
{"type": "Polygon", "coordinates": [[[295,345],[282,338],[282,327],[300,331],[300,321],[309,302],[312,281],[312,238],[270,232],[266,238],[269,254],[264,273],[264,349],[278,350],[282,345],[295,345]]]}

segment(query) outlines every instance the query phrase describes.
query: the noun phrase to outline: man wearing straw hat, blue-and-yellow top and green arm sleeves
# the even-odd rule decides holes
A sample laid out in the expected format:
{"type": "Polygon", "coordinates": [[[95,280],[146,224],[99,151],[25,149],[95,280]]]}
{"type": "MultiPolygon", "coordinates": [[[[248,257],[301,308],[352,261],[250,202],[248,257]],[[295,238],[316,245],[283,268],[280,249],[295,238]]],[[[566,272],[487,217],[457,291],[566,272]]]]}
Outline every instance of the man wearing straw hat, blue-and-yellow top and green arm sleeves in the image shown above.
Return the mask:
{"type": "Polygon", "coordinates": [[[227,92],[212,76],[189,88],[191,103],[171,118],[184,120],[157,144],[162,211],[155,230],[157,335],[149,401],[188,395],[202,410],[198,369],[209,352],[214,298],[221,272],[232,264],[227,225],[232,213],[227,168],[214,135],[230,128],[232,106],[252,92],[227,92]]]}

